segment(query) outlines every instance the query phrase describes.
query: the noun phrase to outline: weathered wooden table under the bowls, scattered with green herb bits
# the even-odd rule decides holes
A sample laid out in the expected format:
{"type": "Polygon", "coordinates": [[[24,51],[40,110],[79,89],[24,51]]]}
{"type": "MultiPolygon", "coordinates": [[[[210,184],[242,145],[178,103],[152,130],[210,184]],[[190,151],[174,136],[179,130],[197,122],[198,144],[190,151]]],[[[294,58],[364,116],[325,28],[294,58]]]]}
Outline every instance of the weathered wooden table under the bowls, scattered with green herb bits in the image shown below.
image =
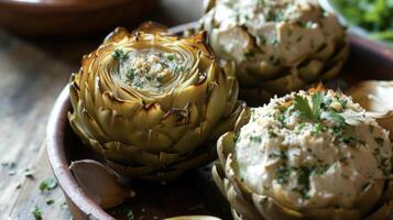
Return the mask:
{"type": "MultiPolygon", "coordinates": [[[[161,0],[160,12],[145,18],[168,26],[196,20],[201,0],[161,0]]],[[[41,193],[52,177],[45,129],[52,105],[105,34],[85,40],[28,40],[0,29],[0,219],[70,219],[56,187],[41,193]],[[53,199],[54,204],[46,201],[53,199]]]]}

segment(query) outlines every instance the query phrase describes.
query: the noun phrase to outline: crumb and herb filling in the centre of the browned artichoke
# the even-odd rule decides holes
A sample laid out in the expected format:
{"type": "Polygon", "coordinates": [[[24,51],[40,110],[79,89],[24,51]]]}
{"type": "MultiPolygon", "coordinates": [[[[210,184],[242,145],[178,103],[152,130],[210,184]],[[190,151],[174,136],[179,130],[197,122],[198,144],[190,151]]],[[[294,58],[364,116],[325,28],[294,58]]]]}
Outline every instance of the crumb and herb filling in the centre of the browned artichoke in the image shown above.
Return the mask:
{"type": "Polygon", "coordinates": [[[134,50],[120,59],[121,80],[134,89],[162,92],[165,85],[185,72],[181,55],[156,48],[134,50]]]}

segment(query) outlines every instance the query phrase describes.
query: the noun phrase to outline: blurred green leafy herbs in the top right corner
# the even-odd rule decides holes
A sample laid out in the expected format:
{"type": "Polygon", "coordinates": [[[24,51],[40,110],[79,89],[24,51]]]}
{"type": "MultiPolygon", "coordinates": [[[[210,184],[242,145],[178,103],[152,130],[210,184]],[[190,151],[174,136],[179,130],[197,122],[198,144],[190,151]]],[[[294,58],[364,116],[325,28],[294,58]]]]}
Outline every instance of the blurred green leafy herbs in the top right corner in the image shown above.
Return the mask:
{"type": "Polygon", "coordinates": [[[371,37],[393,42],[393,0],[331,0],[350,24],[369,31],[371,37]]]}

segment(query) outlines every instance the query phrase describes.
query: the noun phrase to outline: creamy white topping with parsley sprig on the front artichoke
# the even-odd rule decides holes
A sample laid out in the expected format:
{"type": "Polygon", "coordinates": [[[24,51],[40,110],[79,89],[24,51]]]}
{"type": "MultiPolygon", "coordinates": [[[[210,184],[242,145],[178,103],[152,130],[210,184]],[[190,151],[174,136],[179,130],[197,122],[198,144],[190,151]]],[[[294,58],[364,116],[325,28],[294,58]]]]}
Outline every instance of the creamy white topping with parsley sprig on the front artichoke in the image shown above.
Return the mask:
{"type": "Polygon", "coordinates": [[[301,91],[253,109],[234,157],[241,180],[258,194],[293,207],[351,208],[390,177],[392,143],[351,98],[301,91]]]}

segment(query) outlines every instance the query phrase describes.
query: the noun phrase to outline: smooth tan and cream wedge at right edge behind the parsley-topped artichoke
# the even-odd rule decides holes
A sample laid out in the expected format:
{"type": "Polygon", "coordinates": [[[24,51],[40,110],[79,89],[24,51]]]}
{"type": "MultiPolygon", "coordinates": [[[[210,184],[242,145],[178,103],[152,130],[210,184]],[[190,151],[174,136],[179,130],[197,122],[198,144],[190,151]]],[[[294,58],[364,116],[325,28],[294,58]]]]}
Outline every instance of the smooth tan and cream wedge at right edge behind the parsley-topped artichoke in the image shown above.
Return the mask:
{"type": "Polygon", "coordinates": [[[393,81],[361,81],[346,94],[363,107],[381,127],[391,131],[390,136],[393,140],[393,81]]]}

